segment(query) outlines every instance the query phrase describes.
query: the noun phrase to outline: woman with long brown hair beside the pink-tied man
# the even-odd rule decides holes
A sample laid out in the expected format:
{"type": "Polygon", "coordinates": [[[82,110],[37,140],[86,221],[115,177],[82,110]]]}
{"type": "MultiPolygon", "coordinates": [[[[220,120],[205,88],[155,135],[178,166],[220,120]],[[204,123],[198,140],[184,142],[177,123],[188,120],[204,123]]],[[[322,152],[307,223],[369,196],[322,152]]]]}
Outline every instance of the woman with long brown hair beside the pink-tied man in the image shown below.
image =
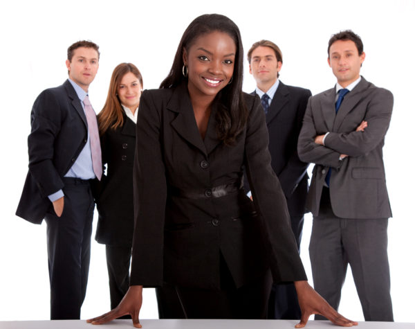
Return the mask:
{"type": "Polygon", "coordinates": [[[95,239],[105,244],[111,308],[120,303],[129,287],[133,238],[133,157],[142,76],[131,63],[114,69],[107,101],[98,114],[102,163],[107,174],[97,199],[95,239]]]}

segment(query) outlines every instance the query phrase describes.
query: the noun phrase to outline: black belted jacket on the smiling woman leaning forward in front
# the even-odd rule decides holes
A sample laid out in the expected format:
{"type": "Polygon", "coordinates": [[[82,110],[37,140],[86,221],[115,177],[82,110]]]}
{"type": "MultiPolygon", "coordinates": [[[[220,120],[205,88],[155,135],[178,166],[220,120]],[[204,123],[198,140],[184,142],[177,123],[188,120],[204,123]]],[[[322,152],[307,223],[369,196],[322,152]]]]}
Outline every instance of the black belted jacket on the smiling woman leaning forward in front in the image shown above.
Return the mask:
{"type": "Polygon", "coordinates": [[[284,193],[270,166],[264,111],[258,98],[244,98],[248,123],[234,145],[227,146],[216,136],[215,114],[221,105],[212,106],[202,140],[186,85],[142,94],[131,285],[166,281],[218,289],[221,255],[237,287],[268,267],[277,282],[306,278],[284,193]],[[209,196],[215,186],[240,182],[243,166],[254,204],[243,189],[209,196]],[[180,191],[206,197],[183,197],[180,191]]]}

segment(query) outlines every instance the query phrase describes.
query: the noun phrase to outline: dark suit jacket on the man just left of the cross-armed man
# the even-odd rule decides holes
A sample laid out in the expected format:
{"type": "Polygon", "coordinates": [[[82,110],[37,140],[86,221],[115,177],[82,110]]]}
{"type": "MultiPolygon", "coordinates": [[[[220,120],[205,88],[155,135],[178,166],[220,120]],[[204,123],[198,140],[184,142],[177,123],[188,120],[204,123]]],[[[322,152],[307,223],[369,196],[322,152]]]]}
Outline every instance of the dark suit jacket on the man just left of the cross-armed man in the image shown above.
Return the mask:
{"type": "MultiPolygon", "coordinates": [[[[252,95],[256,95],[255,91],[252,95]]],[[[308,163],[298,158],[297,141],[311,91],[279,81],[266,114],[271,167],[279,179],[291,216],[302,216],[308,189],[308,163]]],[[[249,190],[248,179],[244,185],[249,190]]]]}

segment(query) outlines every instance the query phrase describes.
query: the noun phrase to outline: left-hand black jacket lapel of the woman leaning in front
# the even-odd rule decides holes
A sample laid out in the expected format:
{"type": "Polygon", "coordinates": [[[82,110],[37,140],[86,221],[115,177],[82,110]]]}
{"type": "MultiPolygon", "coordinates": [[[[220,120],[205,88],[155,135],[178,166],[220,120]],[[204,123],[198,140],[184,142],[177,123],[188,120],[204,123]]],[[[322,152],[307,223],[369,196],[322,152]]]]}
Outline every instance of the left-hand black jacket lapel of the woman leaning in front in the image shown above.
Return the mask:
{"type": "Polygon", "coordinates": [[[170,98],[167,103],[167,109],[177,113],[176,118],[174,118],[171,123],[174,130],[176,130],[183,139],[201,150],[203,154],[207,155],[205,144],[197,129],[192,103],[190,102],[189,93],[185,83],[182,83],[173,91],[172,98],[170,98]]]}

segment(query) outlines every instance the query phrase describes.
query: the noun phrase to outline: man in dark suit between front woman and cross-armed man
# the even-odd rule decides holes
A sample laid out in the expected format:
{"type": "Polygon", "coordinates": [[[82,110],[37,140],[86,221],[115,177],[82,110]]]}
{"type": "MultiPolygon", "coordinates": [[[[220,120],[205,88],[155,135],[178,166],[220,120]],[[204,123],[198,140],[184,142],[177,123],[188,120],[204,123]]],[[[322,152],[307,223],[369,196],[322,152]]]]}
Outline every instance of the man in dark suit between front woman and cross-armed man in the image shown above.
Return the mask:
{"type": "MultiPolygon", "coordinates": [[[[284,190],[291,227],[299,249],[308,188],[308,163],[298,158],[297,139],[311,91],[284,85],[279,80],[282,53],[273,42],[255,42],[248,51],[248,62],[250,73],[257,82],[257,88],[252,94],[261,98],[266,114],[271,166],[284,190]]],[[[244,186],[249,190],[247,179],[244,186]]],[[[293,284],[273,285],[268,317],[300,319],[301,310],[293,284]]]]}

